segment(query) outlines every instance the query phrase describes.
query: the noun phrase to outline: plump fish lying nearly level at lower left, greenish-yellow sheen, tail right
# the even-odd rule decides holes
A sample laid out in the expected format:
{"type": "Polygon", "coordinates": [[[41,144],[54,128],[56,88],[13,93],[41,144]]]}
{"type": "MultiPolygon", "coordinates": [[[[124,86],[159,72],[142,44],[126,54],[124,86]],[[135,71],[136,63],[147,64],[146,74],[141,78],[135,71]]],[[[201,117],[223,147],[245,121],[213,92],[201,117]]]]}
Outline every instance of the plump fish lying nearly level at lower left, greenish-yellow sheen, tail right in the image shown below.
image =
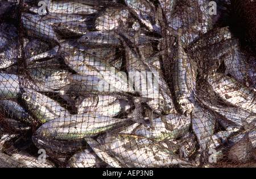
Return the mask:
{"type": "Polygon", "coordinates": [[[93,112],[65,115],[42,124],[36,130],[36,135],[55,140],[82,139],[108,131],[126,120],[93,112]]]}

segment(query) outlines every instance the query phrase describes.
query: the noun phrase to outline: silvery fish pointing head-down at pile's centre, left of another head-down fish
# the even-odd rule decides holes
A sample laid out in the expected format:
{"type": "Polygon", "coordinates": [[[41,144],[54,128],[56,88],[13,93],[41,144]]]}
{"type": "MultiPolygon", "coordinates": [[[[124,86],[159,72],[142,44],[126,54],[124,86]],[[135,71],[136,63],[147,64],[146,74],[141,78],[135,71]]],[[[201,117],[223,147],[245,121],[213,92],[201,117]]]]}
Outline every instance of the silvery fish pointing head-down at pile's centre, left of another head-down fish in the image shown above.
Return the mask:
{"type": "MultiPolygon", "coordinates": [[[[159,88],[159,73],[151,71],[146,64],[143,63],[139,52],[125,45],[126,70],[129,73],[129,81],[134,86],[134,91],[138,92],[142,98],[151,98],[147,104],[152,110],[163,111],[169,114],[172,110],[172,103],[165,102],[161,89],[159,88]]],[[[129,88],[132,87],[131,84],[129,88]]],[[[130,91],[133,91],[130,88],[130,91]]],[[[169,98],[170,99],[170,98],[169,98]]]]}

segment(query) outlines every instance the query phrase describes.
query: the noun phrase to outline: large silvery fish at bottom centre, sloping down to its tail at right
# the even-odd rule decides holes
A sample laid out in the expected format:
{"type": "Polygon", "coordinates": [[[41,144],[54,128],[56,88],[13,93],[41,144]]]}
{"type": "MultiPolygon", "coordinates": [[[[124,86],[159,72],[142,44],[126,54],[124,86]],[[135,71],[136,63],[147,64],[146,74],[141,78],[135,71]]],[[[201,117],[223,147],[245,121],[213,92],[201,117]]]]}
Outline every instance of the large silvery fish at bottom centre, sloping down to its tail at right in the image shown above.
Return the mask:
{"type": "Polygon", "coordinates": [[[97,139],[105,151],[115,156],[125,167],[160,167],[187,164],[161,143],[136,135],[106,134],[97,139]]]}

